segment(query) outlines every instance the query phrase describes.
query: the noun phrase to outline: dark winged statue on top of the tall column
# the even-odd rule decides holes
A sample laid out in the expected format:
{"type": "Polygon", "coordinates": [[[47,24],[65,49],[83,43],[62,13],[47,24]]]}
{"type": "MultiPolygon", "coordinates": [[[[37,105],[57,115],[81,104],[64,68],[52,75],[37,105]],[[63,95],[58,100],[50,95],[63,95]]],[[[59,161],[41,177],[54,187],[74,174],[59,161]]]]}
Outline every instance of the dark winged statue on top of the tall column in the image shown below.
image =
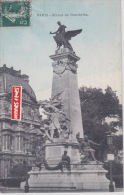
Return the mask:
{"type": "Polygon", "coordinates": [[[59,25],[58,30],[53,33],[50,32],[50,34],[55,34],[54,39],[57,43],[57,48],[59,49],[63,45],[65,48],[69,48],[70,50],[73,51],[73,48],[69,43],[69,40],[71,40],[71,38],[75,37],[77,34],[81,33],[82,29],[66,32],[65,25],[62,25],[61,22],[57,22],[57,24],[59,25]]]}

